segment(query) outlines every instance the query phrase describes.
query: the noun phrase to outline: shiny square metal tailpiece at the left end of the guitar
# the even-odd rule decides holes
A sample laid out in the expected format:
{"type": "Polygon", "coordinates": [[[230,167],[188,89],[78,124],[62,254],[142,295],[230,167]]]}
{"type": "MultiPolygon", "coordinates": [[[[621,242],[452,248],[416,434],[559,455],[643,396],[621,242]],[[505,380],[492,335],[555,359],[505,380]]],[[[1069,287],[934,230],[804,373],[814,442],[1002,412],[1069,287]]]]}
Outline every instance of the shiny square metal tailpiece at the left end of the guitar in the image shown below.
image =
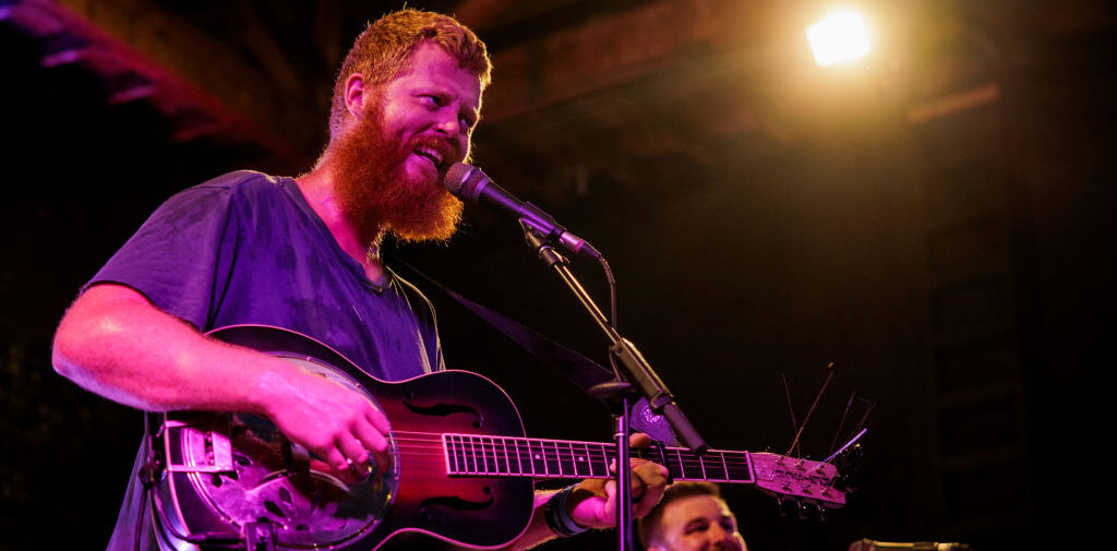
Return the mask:
{"type": "Polygon", "coordinates": [[[229,440],[229,417],[189,422],[164,418],[163,452],[169,473],[229,473],[232,466],[232,444],[229,440]],[[204,450],[204,453],[183,453],[204,450]]]}

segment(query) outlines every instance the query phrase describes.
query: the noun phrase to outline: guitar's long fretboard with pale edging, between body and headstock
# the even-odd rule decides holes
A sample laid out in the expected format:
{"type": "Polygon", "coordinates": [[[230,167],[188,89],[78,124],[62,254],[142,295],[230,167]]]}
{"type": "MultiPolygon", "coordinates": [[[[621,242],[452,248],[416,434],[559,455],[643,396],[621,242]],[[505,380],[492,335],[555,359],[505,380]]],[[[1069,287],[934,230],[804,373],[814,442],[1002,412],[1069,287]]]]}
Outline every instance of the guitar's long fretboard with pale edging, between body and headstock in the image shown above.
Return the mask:
{"type": "MultiPolygon", "coordinates": [[[[608,478],[614,444],[507,436],[443,434],[447,472],[470,476],[608,478]]],[[[632,457],[665,465],[676,481],[755,482],[748,452],[707,450],[698,456],[672,447],[633,448],[632,457]]]]}

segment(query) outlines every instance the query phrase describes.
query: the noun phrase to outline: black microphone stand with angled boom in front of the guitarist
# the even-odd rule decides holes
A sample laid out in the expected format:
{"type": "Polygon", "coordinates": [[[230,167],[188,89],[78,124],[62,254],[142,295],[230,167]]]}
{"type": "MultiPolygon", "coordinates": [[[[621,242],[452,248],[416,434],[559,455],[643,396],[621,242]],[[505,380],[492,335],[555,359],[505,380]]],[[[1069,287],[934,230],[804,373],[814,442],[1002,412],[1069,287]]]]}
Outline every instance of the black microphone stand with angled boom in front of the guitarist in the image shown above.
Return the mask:
{"type": "Polygon", "coordinates": [[[652,412],[662,415],[682,445],[695,454],[701,455],[706,452],[706,441],[679,409],[675,397],[671,396],[667,386],[651,369],[648,361],[643,359],[640,351],[636,349],[636,345],[617,332],[617,327],[609,322],[590,294],[570,272],[566,258],[551,246],[548,236],[536,229],[528,220],[521,219],[519,226],[524,230],[527,245],[535,249],[544,264],[558,274],[582,303],[582,306],[590,313],[593,321],[596,322],[605,338],[609,339],[609,353],[618,360],[612,362],[617,379],[594,386],[590,389],[590,393],[595,398],[607,400],[613,408],[613,438],[617,440],[617,549],[619,551],[634,550],[637,548],[632,538],[632,471],[629,467],[631,457],[629,415],[632,398],[638,396],[647,398],[652,412]]]}

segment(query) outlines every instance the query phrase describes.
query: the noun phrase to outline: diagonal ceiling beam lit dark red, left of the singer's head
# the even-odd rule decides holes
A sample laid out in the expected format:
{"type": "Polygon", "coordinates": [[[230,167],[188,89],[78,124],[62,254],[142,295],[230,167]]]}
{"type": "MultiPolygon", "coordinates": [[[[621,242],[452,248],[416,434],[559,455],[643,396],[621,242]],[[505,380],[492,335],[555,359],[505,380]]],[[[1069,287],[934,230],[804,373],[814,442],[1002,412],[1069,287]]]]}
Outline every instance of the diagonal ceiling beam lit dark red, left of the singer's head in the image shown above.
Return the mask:
{"type": "Polygon", "coordinates": [[[297,86],[277,92],[270,73],[154,3],[20,0],[9,10],[15,19],[49,19],[80,36],[86,44],[78,57],[106,78],[131,73],[137,75],[131,80],[149,83],[139,88],[144,94],[133,89],[115,97],[146,96],[171,120],[192,121],[193,127],[176,133],[180,139],[209,134],[295,158],[309,158],[321,145],[315,131],[325,121],[308,122],[314,110],[306,92],[297,86]],[[206,120],[212,124],[198,126],[206,120]]]}

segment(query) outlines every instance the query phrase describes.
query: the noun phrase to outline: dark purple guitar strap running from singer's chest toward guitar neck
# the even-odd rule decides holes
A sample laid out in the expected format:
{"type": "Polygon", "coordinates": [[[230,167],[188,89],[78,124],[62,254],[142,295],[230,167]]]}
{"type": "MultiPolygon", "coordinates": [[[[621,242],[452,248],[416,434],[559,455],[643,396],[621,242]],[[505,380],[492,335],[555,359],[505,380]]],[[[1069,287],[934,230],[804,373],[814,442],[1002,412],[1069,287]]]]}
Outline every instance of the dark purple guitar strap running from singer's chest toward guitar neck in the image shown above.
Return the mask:
{"type": "MultiPolygon", "coordinates": [[[[518,344],[527,353],[542,361],[552,370],[564,376],[583,391],[589,392],[590,388],[594,384],[613,380],[613,372],[611,370],[601,367],[577,351],[558,344],[542,333],[499,312],[461,296],[427,274],[419,272],[414,266],[411,266],[395,255],[385,256],[392,260],[393,266],[403,267],[408,275],[413,275],[416,278],[422,279],[428,285],[454,298],[458,304],[461,304],[474,315],[480,317],[500,333],[504,333],[512,342],[518,344]]],[[[632,405],[629,411],[629,425],[634,430],[646,433],[663,444],[679,446],[678,438],[675,437],[675,433],[667,424],[667,420],[662,416],[653,414],[648,407],[648,400],[645,398],[640,398],[639,401],[632,405]]]]}

